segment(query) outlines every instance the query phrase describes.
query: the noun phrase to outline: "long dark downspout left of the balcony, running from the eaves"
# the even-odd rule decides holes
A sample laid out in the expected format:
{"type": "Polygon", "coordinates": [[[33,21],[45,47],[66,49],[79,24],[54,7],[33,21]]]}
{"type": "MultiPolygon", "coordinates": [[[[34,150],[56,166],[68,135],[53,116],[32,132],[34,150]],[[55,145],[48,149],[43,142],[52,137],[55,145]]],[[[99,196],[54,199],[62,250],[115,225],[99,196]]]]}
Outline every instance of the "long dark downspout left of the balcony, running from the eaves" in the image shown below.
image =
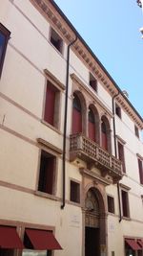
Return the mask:
{"type": "Polygon", "coordinates": [[[65,207],[65,194],[66,194],[66,136],[67,136],[67,113],[68,113],[68,92],[69,92],[69,64],[70,64],[70,48],[77,40],[77,35],[75,39],[68,45],[67,50],[67,71],[66,71],[66,92],[65,92],[65,112],[64,112],[64,135],[63,135],[63,203],[61,209],[65,207]]]}

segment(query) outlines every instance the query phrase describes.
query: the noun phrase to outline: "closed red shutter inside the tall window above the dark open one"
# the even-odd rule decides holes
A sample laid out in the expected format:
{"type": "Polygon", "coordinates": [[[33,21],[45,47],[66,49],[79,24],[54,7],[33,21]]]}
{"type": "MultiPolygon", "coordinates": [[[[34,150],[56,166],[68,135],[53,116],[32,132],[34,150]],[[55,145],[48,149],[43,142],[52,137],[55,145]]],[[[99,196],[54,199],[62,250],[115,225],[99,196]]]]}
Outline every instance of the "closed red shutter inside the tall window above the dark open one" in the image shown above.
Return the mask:
{"type": "Polygon", "coordinates": [[[49,124],[51,124],[51,126],[54,125],[55,92],[56,92],[56,90],[55,90],[54,86],[51,84],[50,81],[48,81],[44,120],[46,122],[48,122],[49,124]]]}

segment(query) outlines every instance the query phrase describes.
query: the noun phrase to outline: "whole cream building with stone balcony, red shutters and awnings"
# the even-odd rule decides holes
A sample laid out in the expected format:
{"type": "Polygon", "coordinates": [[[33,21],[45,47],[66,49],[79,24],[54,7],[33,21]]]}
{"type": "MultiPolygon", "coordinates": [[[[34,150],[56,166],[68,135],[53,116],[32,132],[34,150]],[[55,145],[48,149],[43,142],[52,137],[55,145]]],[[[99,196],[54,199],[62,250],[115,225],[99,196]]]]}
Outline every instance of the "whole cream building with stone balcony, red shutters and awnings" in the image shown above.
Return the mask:
{"type": "Polygon", "coordinates": [[[143,255],[143,119],[53,1],[0,22],[0,255],[143,255]]]}

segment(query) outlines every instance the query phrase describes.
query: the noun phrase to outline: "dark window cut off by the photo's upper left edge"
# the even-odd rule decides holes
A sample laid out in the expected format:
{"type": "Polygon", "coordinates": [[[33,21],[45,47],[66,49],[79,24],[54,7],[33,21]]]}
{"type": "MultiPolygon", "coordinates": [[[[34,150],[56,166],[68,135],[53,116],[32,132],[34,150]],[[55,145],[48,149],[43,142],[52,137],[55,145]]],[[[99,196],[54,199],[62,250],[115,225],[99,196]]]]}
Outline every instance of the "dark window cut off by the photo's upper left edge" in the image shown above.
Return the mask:
{"type": "Polygon", "coordinates": [[[6,55],[6,49],[8,40],[10,38],[10,31],[7,30],[2,23],[0,23],[0,76],[2,73],[4,58],[6,55]]]}

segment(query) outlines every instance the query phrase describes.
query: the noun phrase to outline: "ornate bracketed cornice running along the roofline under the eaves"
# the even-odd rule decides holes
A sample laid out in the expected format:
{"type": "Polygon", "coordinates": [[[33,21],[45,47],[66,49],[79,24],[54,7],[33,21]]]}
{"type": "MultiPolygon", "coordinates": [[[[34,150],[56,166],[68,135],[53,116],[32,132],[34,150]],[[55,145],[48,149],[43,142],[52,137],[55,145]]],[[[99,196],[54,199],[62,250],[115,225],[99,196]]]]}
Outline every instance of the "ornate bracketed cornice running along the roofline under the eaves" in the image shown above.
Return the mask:
{"type": "Polygon", "coordinates": [[[132,104],[125,99],[122,95],[122,91],[112,80],[112,77],[105,68],[102,66],[100,61],[93,56],[92,50],[84,42],[82,37],[75,31],[70,21],[64,15],[63,12],[58,10],[54,1],[51,0],[30,0],[31,4],[44,15],[44,17],[51,23],[51,26],[56,29],[56,31],[62,36],[62,38],[67,42],[71,43],[75,38],[75,34],[78,39],[76,43],[72,46],[72,51],[80,58],[84,64],[88,67],[89,71],[95,76],[95,78],[102,83],[104,88],[112,95],[120,94],[116,98],[118,103],[123,107],[128,115],[131,116],[133,122],[138,126],[138,128],[143,128],[143,119],[139,116],[137,111],[133,109],[132,104]],[[58,10],[58,11],[57,11],[58,10]]]}

